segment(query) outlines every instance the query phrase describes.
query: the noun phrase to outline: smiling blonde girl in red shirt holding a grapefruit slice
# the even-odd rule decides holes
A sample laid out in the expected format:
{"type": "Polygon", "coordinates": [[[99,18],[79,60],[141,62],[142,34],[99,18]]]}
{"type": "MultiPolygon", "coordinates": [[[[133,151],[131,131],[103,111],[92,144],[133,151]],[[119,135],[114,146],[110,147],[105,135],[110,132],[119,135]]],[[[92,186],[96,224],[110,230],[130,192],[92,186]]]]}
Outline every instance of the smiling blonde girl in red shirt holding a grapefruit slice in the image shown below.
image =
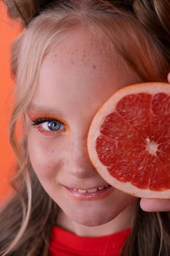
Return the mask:
{"type": "Polygon", "coordinates": [[[26,29],[12,48],[18,167],[1,211],[0,254],[170,255],[169,212],[145,212],[169,200],[142,200],[142,211],[98,175],[86,146],[93,116],[117,89],[166,82],[169,1],[5,3],[26,29]]]}

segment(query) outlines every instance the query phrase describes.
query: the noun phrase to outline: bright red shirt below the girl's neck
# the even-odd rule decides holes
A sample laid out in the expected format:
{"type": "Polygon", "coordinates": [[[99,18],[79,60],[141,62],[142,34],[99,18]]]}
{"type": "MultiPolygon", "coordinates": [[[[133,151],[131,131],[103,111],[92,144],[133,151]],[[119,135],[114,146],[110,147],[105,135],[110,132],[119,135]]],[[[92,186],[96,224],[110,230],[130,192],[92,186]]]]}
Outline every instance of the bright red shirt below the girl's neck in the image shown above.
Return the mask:
{"type": "Polygon", "coordinates": [[[53,227],[49,256],[117,256],[131,229],[109,236],[82,237],[53,227]]]}

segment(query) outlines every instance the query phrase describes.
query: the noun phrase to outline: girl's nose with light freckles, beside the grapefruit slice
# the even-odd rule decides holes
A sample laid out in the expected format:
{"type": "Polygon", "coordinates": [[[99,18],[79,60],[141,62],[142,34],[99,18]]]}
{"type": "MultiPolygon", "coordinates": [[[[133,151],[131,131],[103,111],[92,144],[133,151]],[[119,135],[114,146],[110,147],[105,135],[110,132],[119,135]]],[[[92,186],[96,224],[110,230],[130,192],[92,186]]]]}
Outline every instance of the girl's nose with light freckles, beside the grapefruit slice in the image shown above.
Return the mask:
{"type": "Polygon", "coordinates": [[[70,136],[64,163],[67,171],[77,178],[98,176],[88,156],[87,135],[70,136]]]}

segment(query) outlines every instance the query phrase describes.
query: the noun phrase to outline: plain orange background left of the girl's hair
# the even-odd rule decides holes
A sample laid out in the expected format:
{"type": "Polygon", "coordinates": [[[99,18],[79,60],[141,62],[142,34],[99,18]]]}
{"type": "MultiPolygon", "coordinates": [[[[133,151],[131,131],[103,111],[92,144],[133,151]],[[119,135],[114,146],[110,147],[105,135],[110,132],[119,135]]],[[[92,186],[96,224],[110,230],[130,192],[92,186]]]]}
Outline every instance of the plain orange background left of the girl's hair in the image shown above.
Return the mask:
{"type": "Polygon", "coordinates": [[[20,33],[20,26],[7,17],[4,4],[0,1],[0,202],[12,191],[8,178],[15,163],[9,145],[9,118],[12,109],[14,82],[10,75],[10,46],[20,33]]]}

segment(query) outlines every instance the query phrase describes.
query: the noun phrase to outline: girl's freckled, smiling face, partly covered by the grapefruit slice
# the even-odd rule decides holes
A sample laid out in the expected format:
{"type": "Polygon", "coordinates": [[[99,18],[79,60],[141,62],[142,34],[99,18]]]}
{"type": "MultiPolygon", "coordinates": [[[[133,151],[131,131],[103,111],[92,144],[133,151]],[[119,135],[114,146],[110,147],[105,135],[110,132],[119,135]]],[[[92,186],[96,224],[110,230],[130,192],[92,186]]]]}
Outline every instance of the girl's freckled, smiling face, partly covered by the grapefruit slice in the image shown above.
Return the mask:
{"type": "Polygon", "coordinates": [[[115,188],[87,198],[66,187],[107,184],[88,157],[88,129],[98,108],[117,89],[139,82],[114,50],[111,53],[83,29],[69,34],[42,62],[36,93],[26,110],[28,151],[42,186],[73,222],[104,224],[135,201],[115,188]]]}

